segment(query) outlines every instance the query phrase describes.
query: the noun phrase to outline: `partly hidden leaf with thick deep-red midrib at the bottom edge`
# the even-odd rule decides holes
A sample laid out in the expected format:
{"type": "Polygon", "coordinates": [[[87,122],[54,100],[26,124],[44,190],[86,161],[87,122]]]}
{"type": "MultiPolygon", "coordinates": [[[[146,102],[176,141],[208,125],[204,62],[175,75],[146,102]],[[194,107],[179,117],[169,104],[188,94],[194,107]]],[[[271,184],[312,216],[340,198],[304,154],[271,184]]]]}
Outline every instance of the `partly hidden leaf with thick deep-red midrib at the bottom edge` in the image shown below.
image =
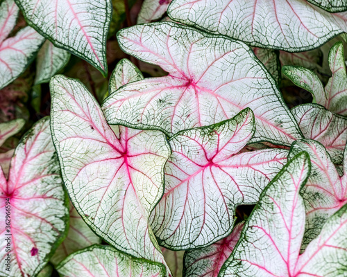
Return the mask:
{"type": "Polygon", "coordinates": [[[228,237],[208,247],[186,251],[184,276],[217,277],[223,263],[229,258],[241,235],[244,223],[237,224],[228,237]]]}

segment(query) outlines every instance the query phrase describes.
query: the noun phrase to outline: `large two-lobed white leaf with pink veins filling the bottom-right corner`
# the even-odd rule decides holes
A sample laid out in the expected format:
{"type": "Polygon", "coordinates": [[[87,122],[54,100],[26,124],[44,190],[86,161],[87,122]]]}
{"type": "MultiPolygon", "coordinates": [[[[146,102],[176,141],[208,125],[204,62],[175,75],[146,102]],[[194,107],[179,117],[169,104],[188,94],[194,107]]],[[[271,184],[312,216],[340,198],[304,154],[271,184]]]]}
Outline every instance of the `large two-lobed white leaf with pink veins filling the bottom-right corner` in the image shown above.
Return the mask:
{"type": "Polygon", "coordinates": [[[329,218],[319,237],[300,255],[305,231],[300,190],[309,175],[306,152],[288,161],[262,192],[220,277],[346,276],[347,205],[329,218]]]}

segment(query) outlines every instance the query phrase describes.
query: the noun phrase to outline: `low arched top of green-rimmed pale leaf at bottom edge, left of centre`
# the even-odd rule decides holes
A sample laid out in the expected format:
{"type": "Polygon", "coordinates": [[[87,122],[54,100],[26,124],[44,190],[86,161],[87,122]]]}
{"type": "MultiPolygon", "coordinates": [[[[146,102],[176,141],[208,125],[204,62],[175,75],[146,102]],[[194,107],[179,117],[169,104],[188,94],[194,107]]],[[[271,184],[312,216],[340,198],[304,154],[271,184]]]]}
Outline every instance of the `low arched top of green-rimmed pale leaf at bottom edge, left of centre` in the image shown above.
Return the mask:
{"type": "Polygon", "coordinates": [[[62,277],[164,277],[166,272],[160,263],[130,258],[113,247],[101,245],[71,254],[57,269],[62,277]]]}

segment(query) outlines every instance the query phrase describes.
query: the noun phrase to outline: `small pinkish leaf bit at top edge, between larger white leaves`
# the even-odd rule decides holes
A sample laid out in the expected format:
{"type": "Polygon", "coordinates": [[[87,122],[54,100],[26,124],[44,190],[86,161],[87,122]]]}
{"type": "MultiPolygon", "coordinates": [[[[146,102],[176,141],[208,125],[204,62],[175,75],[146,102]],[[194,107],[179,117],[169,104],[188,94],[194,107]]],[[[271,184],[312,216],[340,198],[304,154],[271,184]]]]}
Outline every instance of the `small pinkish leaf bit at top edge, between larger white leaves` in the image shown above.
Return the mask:
{"type": "Polygon", "coordinates": [[[167,12],[171,0],[144,0],[137,16],[137,24],[149,23],[160,19],[167,12]]]}

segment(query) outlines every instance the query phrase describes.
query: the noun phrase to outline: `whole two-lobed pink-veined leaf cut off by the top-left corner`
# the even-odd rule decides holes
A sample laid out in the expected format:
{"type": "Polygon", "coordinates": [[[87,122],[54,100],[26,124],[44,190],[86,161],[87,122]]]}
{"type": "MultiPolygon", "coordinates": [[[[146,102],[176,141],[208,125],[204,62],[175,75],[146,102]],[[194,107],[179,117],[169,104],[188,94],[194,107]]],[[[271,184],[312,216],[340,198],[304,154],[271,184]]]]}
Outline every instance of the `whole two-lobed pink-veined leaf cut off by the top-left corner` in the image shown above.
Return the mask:
{"type": "Polygon", "coordinates": [[[6,87],[24,72],[35,57],[44,38],[31,27],[23,28],[5,39],[18,16],[18,8],[13,0],[2,1],[0,5],[0,89],[6,87]]]}

